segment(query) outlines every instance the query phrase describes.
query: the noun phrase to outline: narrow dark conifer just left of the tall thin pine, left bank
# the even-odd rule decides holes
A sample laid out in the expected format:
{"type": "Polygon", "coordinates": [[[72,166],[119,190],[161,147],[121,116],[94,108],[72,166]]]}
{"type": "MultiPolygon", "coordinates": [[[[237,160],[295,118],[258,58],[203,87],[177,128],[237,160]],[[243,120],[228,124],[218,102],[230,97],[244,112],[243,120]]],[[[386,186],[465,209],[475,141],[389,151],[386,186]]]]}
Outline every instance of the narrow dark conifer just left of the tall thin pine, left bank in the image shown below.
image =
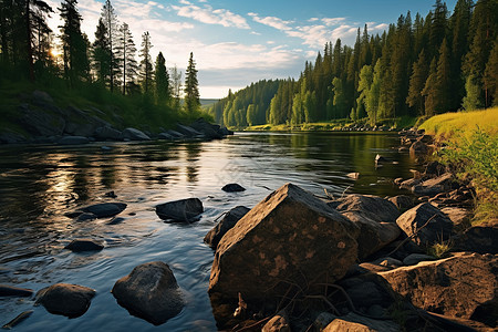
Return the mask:
{"type": "Polygon", "coordinates": [[[100,18],[92,48],[92,68],[96,74],[96,82],[102,85],[111,84],[112,52],[107,37],[107,27],[104,24],[102,18],[100,18]]]}

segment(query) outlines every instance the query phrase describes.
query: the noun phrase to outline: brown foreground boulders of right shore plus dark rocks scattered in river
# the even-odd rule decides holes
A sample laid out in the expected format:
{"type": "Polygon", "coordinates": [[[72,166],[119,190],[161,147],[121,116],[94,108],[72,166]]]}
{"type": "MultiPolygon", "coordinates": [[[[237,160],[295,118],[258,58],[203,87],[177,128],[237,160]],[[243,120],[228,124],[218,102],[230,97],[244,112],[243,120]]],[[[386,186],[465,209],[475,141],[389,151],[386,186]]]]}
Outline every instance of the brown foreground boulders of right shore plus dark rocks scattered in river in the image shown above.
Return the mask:
{"type": "MultiPolygon", "coordinates": [[[[419,162],[437,148],[423,132],[401,135],[419,162]]],[[[430,162],[425,172],[395,184],[411,194],[330,199],[287,184],[251,209],[227,211],[204,239],[215,250],[208,293],[218,329],[494,331],[498,227],[470,224],[471,183],[430,162]]],[[[240,190],[235,184],[224,188],[240,190]]],[[[106,203],[66,216],[93,220],[125,209],[125,204],[106,203]]],[[[168,222],[193,222],[203,212],[196,198],[156,206],[157,216],[168,222]]],[[[105,247],[84,238],[66,249],[105,247]]],[[[0,286],[2,297],[33,293],[0,286]]],[[[160,261],[137,266],[115,282],[112,293],[131,314],[155,325],[185,305],[173,271],[160,261]]],[[[56,283],[40,290],[37,303],[74,318],[85,313],[94,295],[91,288],[56,283]]]]}

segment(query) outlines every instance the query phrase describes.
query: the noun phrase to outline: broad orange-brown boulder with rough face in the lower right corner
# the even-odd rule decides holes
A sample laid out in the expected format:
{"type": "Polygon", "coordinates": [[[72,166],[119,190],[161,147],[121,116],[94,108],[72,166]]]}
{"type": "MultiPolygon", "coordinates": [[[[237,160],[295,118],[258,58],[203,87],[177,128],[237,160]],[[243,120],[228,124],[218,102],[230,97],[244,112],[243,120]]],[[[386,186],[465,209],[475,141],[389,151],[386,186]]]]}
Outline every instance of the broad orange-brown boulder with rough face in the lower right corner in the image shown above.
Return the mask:
{"type": "Polygon", "coordinates": [[[497,256],[460,252],[378,276],[415,307],[496,326],[497,270],[497,256]]]}

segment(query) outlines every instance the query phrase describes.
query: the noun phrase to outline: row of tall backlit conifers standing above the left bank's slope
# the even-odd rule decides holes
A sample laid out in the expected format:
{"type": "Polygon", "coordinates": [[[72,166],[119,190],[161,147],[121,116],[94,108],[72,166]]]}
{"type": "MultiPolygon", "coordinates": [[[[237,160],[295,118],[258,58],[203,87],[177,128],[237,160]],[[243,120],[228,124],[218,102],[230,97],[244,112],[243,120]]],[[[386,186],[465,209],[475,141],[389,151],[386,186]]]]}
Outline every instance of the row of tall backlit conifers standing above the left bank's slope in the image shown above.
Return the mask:
{"type": "Polygon", "coordinates": [[[143,94],[155,103],[172,110],[184,108],[193,114],[200,108],[197,70],[190,53],[185,85],[181,72],[169,70],[163,52],[153,64],[151,34],[142,34],[139,62],[137,48],[126,22],[120,23],[110,0],[106,0],[95,28],[95,40],[90,42],[81,31],[82,15],[77,0],[63,0],[56,8],[62,20],[58,35],[46,23],[54,9],[41,0],[0,0],[0,61],[4,69],[28,76],[35,82],[44,76],[62,77],[69,87],[90,83],[123,95],[143,94]],[[58,56],[55,37],[59,37],[58,56]]]}

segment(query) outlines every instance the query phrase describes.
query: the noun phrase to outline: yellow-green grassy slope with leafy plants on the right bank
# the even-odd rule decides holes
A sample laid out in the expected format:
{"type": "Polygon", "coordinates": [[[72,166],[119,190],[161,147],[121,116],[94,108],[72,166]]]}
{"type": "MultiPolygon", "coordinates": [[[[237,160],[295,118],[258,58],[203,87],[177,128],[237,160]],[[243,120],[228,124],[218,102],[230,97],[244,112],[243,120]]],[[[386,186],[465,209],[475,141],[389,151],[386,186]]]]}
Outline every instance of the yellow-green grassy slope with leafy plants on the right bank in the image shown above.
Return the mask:
{"type": "Polygon", "coordinates": [[[448,144],[440,160],[458,176],[473,178],[477,194],[473,224],[498,224],[498,107],[437,115],[421,128],[448,144]]]}

